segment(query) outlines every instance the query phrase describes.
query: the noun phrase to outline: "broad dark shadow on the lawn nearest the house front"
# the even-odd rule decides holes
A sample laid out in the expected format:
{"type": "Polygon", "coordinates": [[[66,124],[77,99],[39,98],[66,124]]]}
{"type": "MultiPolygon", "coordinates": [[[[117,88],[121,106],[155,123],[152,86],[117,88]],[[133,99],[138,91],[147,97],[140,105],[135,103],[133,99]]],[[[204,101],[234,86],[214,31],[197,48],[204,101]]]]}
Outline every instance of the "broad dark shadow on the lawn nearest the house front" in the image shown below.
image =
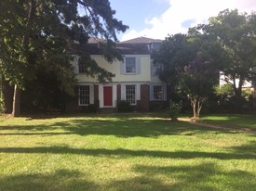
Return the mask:
{"type": "Polygon", "coordinates": [[[157,137],[160,135],[193,135],[193,134],[240,134],[234,130],[214,129],[185,121],[169,122],[165,119],[121,118],[119,121],[73,120],[74,125],[63,127],[74,134],[115,135],[117,137],[157,137]],[[188,133],[189,134],[184,134],[188,133]]]}

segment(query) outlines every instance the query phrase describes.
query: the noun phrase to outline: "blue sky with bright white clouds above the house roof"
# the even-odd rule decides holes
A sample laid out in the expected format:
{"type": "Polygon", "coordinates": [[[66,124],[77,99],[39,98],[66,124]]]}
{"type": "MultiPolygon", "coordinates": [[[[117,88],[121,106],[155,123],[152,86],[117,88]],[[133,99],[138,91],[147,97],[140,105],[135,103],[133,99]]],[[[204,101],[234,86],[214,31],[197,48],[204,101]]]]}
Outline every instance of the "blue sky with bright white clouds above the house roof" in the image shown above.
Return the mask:
{"type": "Polygon", "coordinates": [[[170,34],[186,33],[188,28],[207,23],[220,11],[256,11],[256,0],[109,0],[115,18],[129,26],[118,34],[119,41],[140,36],[165,39],[170,34]]]}

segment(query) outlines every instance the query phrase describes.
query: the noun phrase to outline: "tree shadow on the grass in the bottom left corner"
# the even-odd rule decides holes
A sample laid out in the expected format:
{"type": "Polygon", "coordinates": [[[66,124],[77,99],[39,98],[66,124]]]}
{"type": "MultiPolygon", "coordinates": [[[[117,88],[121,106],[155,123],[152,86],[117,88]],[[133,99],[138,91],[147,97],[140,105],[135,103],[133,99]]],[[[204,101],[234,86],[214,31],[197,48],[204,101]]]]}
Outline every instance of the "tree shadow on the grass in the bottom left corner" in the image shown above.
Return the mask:
{"type": "Polygon", "coordinates": [[[59,170],[54,173],[19,174],[0,178],[0,190],[97,190],[99,185],[82,179],[77,171],[59,170]]]}

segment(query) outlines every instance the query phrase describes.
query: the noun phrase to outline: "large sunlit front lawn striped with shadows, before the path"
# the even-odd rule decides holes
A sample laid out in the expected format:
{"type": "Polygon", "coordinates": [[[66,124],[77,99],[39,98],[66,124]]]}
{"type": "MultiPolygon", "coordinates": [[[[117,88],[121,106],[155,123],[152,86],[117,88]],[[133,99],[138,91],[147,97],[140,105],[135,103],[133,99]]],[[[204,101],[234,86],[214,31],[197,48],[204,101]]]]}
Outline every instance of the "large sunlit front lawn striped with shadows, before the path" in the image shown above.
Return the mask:
{"type": "Polygon", "coordinates": [[[255,134],[154,115],[0,119],[0,190],[256,190],[255,134]]]}

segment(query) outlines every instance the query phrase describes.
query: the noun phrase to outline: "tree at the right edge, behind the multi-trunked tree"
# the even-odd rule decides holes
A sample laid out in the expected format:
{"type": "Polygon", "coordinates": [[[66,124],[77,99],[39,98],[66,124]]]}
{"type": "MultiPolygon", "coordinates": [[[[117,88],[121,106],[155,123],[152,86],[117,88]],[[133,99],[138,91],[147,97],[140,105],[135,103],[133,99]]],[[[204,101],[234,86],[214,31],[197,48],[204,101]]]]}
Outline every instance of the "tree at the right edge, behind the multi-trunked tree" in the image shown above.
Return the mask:
{"type": "Polygon", "coordinates": [[[214,36],[222,46],[222,70],[225,82],[232,86],[236,97],[236,108],[241,106],[242,86],[255,79],[256,66],[256,15],[239,14],[238,10],[223,10],[209,24],[198,28],[206,35],[214,36]],[[238,83],[236,83],[236,81],[238,83]]]}

